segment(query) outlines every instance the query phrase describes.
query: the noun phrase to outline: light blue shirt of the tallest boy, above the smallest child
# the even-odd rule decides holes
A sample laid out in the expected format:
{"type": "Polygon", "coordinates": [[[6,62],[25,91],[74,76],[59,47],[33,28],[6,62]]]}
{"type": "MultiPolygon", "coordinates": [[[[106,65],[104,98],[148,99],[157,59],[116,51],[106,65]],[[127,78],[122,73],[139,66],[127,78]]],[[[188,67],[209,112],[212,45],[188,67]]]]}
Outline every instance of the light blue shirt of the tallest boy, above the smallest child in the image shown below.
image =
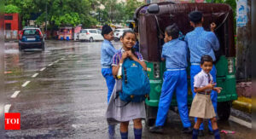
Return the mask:
{"type": "Polygon", "coordinates": [[[202,55],[210,55],[212,60],[216,61],[213,50],[219,49],[219,43],[214,32],[195,27],[194,31],[187,33],[185,41],[188,43],[191,63],[200,63],[202,55]]]}

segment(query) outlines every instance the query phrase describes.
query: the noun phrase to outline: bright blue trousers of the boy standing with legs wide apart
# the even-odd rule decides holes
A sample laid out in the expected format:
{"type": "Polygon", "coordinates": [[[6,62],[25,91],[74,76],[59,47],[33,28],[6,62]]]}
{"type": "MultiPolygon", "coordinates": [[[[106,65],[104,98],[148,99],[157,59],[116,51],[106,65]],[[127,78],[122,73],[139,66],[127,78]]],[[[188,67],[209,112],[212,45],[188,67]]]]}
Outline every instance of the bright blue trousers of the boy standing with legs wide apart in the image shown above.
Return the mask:
{"type": "Polygon", "coordinates": [[[188,84],[187,72],[183,69],[167,69],[164,73],[164,83],[162,85],[161,96],[159,101],[159,108],[157,118],[155,121],[156,126],[163,126],[166,121],[166,116],[171,105],[172,95],[176,92],[177,108],[180,119],[182,120],[183,127],[191,126],[189,121],[188,111],[188,84]]]}

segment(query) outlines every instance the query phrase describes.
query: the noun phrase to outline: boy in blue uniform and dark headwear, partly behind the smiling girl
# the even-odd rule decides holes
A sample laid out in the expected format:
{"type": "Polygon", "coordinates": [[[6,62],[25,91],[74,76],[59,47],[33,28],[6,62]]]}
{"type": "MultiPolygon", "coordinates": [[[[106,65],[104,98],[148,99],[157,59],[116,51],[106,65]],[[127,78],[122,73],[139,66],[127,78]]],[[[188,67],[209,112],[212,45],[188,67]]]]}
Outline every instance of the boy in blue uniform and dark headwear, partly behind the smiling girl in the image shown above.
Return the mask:
{"type": "Polygon", "coordinates": [[[104,41],[102,43],[102,76],[106,79],[108,86],[108,101],[113,91],[113,86],[115,84],[115,79],[112,74],[112,57],[117,52],[116,49],[113,48],[113,45],[110,41],[113,40],[113,30],[110,26],[105,25],[102,27],[102,36],[104,41]]]}

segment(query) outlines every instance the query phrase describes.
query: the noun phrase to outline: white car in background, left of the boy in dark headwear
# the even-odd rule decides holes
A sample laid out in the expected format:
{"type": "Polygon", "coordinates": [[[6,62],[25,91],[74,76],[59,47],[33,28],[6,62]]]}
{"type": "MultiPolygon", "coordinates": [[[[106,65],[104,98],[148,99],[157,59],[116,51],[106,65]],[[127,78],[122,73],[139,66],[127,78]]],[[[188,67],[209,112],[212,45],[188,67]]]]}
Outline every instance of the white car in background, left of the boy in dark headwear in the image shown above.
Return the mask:
{"type": "Polygon", "coordinates": [[[82,29],[79,33],[80,41],[103,41],[102,32],[97,29],[82,29]]]}

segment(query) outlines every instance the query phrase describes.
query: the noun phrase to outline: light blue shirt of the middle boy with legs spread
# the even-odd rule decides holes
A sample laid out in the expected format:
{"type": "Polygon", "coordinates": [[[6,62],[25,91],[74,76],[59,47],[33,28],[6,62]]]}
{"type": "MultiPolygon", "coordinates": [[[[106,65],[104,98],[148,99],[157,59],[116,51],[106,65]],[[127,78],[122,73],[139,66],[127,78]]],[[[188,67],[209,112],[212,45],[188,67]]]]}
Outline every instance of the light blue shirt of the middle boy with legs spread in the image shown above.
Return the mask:
{"type": "Polygon", "coordinates": [[[166,68],[186,68],[188,53],[187,43],[177,38],[164,44],[161,57],[166,59],[166,68]]]}

